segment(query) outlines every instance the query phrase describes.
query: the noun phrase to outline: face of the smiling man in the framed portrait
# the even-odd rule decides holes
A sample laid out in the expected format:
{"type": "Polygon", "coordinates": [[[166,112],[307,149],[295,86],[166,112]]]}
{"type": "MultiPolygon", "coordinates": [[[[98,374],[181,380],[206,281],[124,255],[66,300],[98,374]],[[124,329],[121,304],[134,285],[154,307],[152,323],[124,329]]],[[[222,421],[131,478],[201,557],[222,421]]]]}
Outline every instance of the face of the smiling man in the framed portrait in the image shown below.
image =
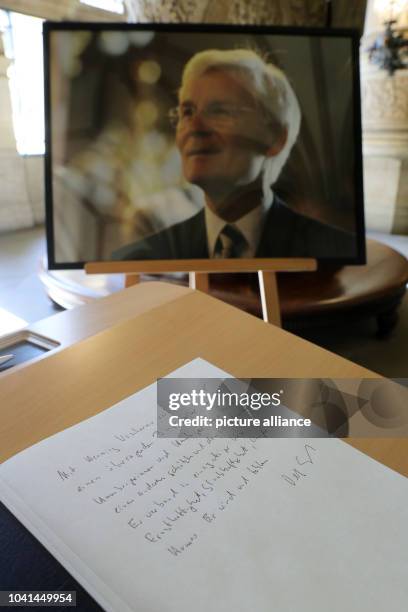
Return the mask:
{"type": "Polygon", "coordinates": [[[242,77],[212,70],[192,79],[179,107],[176,144],[190,183],[222,199],[260,179],[271,134],[242,77]]]}

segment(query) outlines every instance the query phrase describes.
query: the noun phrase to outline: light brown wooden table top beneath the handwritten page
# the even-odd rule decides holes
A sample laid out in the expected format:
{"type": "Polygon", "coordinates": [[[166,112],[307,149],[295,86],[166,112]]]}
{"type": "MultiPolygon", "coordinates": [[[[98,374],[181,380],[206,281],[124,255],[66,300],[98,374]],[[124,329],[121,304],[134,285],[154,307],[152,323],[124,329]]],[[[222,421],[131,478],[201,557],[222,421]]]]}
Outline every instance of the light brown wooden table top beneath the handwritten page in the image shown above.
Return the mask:
{"type": "MultiPolygon", "coordinates": [[[[350,361],[191,289],[143,283],[32,326],[61,348],[0,375],[0,460],[202,357],[236,377],[360,378],[350,361]]],[[[351,443],[408,475],[404,439],[351,443]]]]}

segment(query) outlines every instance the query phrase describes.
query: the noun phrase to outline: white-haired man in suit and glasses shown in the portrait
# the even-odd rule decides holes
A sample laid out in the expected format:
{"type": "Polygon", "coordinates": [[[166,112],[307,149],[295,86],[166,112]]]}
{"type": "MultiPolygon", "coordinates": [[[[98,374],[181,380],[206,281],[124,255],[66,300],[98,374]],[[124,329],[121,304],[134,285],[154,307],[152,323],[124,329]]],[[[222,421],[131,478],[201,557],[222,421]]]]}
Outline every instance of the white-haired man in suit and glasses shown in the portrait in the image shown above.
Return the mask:
{"type": "Polygon", "coordinates": [[[247,49],[199,52],[185,66],[170,118],[184,176],[203,190],[205,206],[115,259],[355,255],[351,235],[299,215],[272,191],[301,121],[276,66],[247,49]]]}

